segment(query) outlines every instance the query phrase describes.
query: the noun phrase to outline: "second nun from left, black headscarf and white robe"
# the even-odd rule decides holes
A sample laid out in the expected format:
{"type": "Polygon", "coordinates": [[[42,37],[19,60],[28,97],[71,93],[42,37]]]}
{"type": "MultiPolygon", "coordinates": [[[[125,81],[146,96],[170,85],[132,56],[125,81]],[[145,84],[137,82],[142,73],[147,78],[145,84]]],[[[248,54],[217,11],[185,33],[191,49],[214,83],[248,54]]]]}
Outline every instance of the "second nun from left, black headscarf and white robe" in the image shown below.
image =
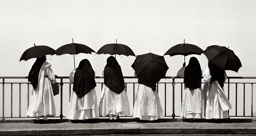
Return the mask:
{"type": "Polygon", "coordinates": [[[68,105],[67,119],[84,120],[99,118],[95,72],[87,59],[80,61],[78,68],[69,75],[73,91],[68,105]]]}

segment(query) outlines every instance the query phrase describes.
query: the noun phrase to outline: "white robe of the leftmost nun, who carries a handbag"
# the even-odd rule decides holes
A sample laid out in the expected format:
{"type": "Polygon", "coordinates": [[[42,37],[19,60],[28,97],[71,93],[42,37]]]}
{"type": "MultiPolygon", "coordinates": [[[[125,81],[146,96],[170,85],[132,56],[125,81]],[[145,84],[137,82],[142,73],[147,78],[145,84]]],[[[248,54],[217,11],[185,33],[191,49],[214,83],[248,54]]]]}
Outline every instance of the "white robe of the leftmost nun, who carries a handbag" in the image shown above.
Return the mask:
{"type": "Polygon", "coordinates": [[[37,88],[30,98],[27,116],[55,116],[56,107],[53,99],[52,84],[55,77],[50,68],[51,64],[44,61],[38,75],[37,88]],[[48,76],[48,77],[44,77],[48,76]]]}

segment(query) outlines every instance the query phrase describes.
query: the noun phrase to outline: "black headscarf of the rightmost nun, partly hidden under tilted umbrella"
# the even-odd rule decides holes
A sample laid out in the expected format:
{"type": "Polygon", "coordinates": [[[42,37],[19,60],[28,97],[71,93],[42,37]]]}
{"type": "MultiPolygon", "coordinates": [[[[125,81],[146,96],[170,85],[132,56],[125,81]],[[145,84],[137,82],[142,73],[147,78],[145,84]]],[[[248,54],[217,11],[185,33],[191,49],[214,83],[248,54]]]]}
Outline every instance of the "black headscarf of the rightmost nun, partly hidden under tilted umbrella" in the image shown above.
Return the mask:
{"type": "Polygon", "coordinates": [[[210,70],[211,80],[218,81],[219,85],[223,88],[225,82],[225,71],[212,63],[208,63],[208,68],[210,70]]]}

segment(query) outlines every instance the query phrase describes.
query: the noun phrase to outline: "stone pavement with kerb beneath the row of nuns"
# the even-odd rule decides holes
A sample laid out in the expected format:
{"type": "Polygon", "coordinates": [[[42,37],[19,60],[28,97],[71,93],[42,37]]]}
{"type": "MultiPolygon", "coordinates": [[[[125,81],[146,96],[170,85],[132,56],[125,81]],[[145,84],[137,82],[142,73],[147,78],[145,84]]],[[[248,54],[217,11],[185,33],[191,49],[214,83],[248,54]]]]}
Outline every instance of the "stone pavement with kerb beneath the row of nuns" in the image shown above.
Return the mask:
{"type": "Polygon", "coordinates": [[[70,122],[67,119],[49,119],[34,123],[34,120],[0,120],[1,136],[52,136],[52,135],[108,135],[108,134],[256,134],[255,119],[225,119],[223,123],[199,119],[90,119],[70,122]]]}

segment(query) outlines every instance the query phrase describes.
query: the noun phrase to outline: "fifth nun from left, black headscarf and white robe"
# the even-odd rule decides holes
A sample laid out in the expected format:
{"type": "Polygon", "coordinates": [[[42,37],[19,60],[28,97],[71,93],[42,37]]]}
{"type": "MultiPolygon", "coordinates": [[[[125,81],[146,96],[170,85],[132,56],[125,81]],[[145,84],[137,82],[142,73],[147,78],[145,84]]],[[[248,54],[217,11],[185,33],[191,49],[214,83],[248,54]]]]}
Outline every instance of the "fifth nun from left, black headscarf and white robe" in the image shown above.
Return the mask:
{"type": "Polygon", "coordinates": [[[184,72],[184,95],[180,117],[200,119],[204,117],[204,101],[201,88],[202,70],[196,57],[191,57],[184,72]]]}

